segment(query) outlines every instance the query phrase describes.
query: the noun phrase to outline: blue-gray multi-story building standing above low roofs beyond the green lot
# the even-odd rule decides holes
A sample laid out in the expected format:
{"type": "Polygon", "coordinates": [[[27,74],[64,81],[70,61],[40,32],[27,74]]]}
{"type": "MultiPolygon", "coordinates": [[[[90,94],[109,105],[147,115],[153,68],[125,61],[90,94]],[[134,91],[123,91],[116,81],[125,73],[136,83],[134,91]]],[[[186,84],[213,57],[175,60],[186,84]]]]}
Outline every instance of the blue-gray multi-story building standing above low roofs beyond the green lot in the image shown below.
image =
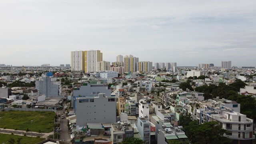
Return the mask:
{"type": "Polygon", "coordinates": [[[36,80],[38,94],[45,94],[46,97],[58,97],[61,93],[61,82],[53,77],[40,77],[36,80]]]}

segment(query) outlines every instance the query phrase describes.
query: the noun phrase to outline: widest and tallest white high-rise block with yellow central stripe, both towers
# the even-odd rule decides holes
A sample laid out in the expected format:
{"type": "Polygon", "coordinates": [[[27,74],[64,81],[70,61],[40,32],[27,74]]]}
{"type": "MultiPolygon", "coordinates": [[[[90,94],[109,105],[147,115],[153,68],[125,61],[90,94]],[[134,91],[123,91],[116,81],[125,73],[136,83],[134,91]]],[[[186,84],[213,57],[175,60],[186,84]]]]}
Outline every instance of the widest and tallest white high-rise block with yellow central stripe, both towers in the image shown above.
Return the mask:
{"type": "Polygon", "coordinates": [[[102,61],[100,50],[71,52],[71,70],[96,72],[98,62],[102,61]]]}

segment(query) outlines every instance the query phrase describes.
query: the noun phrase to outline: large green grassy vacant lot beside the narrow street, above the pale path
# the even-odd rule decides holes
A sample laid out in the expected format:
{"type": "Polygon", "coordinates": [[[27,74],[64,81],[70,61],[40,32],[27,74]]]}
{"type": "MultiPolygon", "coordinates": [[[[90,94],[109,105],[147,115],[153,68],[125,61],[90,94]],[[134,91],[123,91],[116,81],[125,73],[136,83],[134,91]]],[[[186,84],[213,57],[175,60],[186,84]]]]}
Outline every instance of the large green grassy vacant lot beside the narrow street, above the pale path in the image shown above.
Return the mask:
{"type": "Polygon", "coordinates": [[[53,131],[54,116],[54,112],[0,112],[0,128],[48,133],[53,131]]]}

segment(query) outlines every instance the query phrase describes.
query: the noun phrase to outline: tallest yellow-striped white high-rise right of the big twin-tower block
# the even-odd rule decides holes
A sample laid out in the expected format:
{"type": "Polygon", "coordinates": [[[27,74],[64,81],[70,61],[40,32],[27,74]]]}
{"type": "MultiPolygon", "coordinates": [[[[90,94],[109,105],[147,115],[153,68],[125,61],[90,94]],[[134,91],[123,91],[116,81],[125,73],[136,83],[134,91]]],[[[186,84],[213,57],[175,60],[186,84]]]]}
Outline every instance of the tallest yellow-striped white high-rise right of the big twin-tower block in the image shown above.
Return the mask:
{"type": "Polygon", "coordinates": [[[124,57],[124,71],[125,72],[136,72],[137,62],[139,58],[133,57],[132,55],[124,57]]]}

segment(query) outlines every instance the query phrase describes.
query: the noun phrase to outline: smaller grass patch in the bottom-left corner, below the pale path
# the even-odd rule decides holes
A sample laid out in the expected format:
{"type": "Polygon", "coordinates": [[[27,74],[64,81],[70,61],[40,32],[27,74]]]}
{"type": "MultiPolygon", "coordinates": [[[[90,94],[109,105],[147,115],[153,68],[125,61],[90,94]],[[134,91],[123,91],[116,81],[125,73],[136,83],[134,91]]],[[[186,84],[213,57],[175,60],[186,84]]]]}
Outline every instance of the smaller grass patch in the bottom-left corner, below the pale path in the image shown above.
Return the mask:
{"type": "MultiPolygon", "coordinates": [[[[18,138],[22,138],[20,140],[21,144],[36,144],[38,142],[42,142],[45,140],[45,138],[34,138],[34,137],[28,137],[28,136],[18,136],[18,135],[13,135],[13,134],[0,134],[0,144],[7,142],[10,140],[10,138],[14,138],[15,144],[18,140],[18,138]]],[[[9,142],[7,143],[9,144],[9,142]]]]}

